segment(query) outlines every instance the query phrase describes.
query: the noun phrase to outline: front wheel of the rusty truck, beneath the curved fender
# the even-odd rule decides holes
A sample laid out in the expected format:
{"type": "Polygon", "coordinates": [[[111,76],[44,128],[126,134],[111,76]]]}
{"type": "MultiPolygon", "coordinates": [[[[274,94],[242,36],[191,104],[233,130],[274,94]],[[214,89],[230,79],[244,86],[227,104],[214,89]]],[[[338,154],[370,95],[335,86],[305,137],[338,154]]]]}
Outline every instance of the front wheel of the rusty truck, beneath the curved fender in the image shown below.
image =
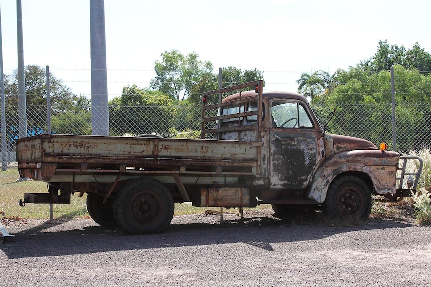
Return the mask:
{"type": "Polygon", "coordinates": [[[371,213],[372,198],[368,185],[355,176],[343,176],[329,187],[323,211],[340,218],[365,220],[371,213]]]}

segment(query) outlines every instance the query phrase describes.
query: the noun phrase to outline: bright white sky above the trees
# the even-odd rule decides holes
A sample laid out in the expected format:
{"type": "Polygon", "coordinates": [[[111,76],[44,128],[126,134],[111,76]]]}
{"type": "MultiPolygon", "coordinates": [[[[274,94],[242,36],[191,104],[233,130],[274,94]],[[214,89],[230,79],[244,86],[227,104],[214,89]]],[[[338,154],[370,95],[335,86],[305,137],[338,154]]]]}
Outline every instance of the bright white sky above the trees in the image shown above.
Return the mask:
{"type": "MultiPolygon", "coordinates": [[[[431,52],[431,1],[105,0],[109,99],[148,87],[165,50],[219,67],[257,68],[266,87],[296,91],[302,72],[348,69],[379,40],[431,52]]],[[[16,1],[0,0],[4,73],[18,66],[16,1]]],[[[22,0],[24,62],[91,97],[88,0],[22,0]]]]}

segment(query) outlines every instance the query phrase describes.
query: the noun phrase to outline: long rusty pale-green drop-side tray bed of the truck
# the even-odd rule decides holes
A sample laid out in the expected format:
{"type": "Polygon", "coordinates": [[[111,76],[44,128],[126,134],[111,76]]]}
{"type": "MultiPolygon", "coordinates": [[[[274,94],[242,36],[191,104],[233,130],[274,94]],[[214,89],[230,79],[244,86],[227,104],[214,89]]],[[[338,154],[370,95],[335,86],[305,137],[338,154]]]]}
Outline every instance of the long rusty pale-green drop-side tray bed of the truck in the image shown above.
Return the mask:
{"type": "Polygon", "coordinates": [[[21,177],[150,173],[255,175],[259,142],[40,134],[16,141],[21,177]]]}

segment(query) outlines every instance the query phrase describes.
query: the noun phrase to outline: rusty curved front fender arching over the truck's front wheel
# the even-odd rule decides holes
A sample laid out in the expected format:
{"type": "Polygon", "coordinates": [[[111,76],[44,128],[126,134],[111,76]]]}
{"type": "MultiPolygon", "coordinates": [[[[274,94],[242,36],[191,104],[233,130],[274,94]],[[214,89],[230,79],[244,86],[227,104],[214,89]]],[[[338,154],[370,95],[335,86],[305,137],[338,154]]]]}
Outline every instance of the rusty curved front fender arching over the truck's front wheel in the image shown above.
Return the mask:
{"type": "Polygon", "coordinates": [[[376,193],[395,193],[396,162],[396,155],[384,154],[382,156],[382,152],[379,150],[356,150],[335,154],[318,167],[308,189],[307,197],[323,203],[333,180],[347,172],[369,178],[376,193]]]}

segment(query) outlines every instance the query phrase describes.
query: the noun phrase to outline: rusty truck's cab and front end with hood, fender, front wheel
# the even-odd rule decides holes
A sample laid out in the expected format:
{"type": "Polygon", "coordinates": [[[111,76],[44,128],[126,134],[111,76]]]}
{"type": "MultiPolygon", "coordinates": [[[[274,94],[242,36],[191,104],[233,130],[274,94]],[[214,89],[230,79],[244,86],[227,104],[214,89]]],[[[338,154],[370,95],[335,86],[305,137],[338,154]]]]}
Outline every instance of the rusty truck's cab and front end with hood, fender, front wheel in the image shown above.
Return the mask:
{"type": "Polygon", "coordinates": [[[216,139],[261,145],[259,176],[249,180],[262,187],[259,200],[279,212],[306,205],[334,216],[367,218],[372,193],[390,199],[407,195],[395,187],[398,153],[365,139],[326,133],[303,95],[261,85],[214,105],[218,119],[209,129],[216,139]]]}

